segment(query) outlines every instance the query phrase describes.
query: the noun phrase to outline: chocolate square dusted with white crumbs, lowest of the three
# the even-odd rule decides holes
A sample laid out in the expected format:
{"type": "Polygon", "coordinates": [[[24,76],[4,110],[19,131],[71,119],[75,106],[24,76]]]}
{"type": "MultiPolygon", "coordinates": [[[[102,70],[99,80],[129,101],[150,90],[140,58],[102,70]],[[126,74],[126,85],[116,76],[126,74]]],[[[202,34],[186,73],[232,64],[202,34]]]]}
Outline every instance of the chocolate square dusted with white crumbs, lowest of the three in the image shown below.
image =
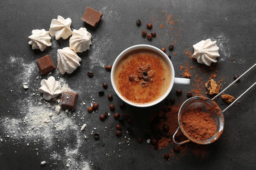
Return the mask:
{"type": "Polygon", "coordinates": [[[63,92],[61,97],[61,107],[76,109],[77,93],[63,92]]]}

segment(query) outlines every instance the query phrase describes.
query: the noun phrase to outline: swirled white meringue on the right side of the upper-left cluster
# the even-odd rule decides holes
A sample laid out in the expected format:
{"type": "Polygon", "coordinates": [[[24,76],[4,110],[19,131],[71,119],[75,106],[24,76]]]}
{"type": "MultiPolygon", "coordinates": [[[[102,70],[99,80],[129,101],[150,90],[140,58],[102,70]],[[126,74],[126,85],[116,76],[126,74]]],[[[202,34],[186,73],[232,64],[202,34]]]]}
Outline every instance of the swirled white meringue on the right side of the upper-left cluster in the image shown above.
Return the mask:
{"type": "Polygon", "coordinates": [[[86,28],[80,28],[79,30],[73,29],[73,35],[70,37],[70,49],[76,53],[82,53],[83,51],[90,49],[92,35],[86,30],[86,28]]]}

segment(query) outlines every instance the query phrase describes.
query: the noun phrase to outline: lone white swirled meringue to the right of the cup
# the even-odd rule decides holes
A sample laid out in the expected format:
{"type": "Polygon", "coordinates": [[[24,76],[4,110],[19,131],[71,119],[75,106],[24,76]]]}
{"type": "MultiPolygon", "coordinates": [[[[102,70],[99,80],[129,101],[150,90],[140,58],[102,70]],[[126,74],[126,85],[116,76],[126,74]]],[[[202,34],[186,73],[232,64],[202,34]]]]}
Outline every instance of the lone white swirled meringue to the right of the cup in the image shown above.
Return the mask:
{"type": "Polygon", "coordinates": [[[220,57],[219,47],[216,45],[216,41],[211,41],[211,39],[202,40],[193,45],[193,48],[195,52],[192,58],[207,66],[210,66],[211,62],[217,62],[216,58],[220,57]]]}

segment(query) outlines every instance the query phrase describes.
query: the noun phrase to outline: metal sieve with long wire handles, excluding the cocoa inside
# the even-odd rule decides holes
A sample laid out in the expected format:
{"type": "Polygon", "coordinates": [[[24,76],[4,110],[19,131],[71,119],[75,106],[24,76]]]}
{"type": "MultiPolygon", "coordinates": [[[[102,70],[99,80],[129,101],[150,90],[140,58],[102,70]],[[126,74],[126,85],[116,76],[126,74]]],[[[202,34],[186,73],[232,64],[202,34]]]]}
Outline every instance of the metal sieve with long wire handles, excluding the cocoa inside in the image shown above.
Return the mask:
{"type": "MultiPolygon", "coordinates": [[[[256,64],[254,64],[251,68],[249,68],[243,75],[245,75],[248,71],[250,71],[256,64]]],[[[230,108],[233,104],[236,103],[236,101],[242,97],[247,91],[249,91],[250,88],[252,88],[256,82],[250,86],[243,94],[241,94],[239,97],[237,97],[236,100],[234,100],[227,108],[221,111],[220,107],[214,102],[214,100],[219,97],[222,93],[224,93],[230,86],[232,86],[234,83],[236,83],[241,77],[241,75],[238,77],[234,82],[229,84],[222,92],[220,92],[218,95],[213,97],[212,99],[209,99],[207,97],[202,97],[202,96],[195,96],[191,97],[190,99],[187,99],[182,106],[180,107],[179,114],[178,114],[178,122],[179,122],[179,127],[177,128],[176,132],[173,134],[173,142],[177,145],[185,144],[189,141],[192,141],[196,144],[211,144],[214,141],[216,141],[220,135],[222,134],[223,128],[224,128],[224,116],[223,113],[230,108]],[[214,123],[216,124],[217,130],[215,134],[210,137],[209,139],[206,140],[196,140],[193,137],[189,136],[186,131],[184,130],[182,126],[182,114],[186,113],[187,110],[189,110],[191,107],[193,108],[201,108],[201,110],[205,113],[209,113],[211,115],[211,118],[213,119],[214,123]],[[182,141],[182,142],[176,142],[175,141],[175,136],[177,135],[178,130],[181,130],[183,135],[187,138],[187,140],[182,141]]],[[[200,127],[199,127],[200,128],[200,127]]]]}

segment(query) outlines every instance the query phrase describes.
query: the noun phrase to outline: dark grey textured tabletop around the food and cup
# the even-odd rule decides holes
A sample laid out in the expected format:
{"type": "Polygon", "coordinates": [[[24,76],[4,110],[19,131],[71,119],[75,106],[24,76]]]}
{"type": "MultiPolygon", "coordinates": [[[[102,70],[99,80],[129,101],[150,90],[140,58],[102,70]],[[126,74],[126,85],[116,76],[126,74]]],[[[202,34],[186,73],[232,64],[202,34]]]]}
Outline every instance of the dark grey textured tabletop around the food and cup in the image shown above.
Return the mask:
{"type": "MultiPolygon", "coordinates": [[[[153,46],[167,49],[171,41],[176,41],[176,55],[172,57],[175,68],[175,76],[180,76],[180,63],[186,60],[197,69],[199,64],[191,62],[187,55],[184,55],[185,49],[193,50],[192,45],[211,38],[217,40],[220,46],[220,59],[216,65],[219,71],[217,80],[223,79],[224,87],[233,81],[235,74],[243,73],[247,68],[256,62],[255,56],[255,32],[256,32],[256,2],[255,0],[241,1],[232,0],[225,2],[214,0],[206,2],[204,0],[164,0],[164,1],[125,1],[125,0],[72,0],[72,1],[18,1],[8,0],[0,1],[0,119],[4,117],[22,116],[20,112],[22,106],[17,105],[18,100],[28,97],[33,91],[24,93],[22,87],[23,80],[18,79],[22,76],[22,70],[16,64],[10,63],[10,57],[23,58],[23,62],[31,63],[36,59],[50,54],[54,64],[57,65],[56,52],[68,46],[69,41],[52,38],[52,47],[45,51],[32,50],[28,44],[28,36],[33,29],[49,30],[49,25],[53,18],[61,15],[64,18],[71,18],[74,29],[86,27],[93,36],[92,47],[89,51],[80,53],[82,58],[81,66],[70,75],[57,74],[58,70],[52,75],[64,77],[70,88],[80,91],[78,103],[87,101],[90,104],[90,96],[93,95],[95,101],[99,102],[99,113],[108,111],[110,103],[115,104],[120,113],[130,113],[133,118],[132,127],[135,128],[135,136],[144,136],[148,130],[148,113],[157,110],[159,106],[152,108],[133,108],[126,106],[126,109],[120,110],[118,105],[121,100],[114,95],[110,85],[110,73],[103,66],[112,64],[121,51],[135,44],[151,44],[153,46]],[[101,22],[94,29],[80,20],[85,11],[85,7],[92,7],[103,13],[101,22]],[[176,34],[170,29],[159,28],[159,24],[165,23],[166,14],[170,13],[175,17],[176,34]],[[156,15],[157,24],[154,25],[155,32],[159,37],[149,42],[141,38],[141,30],[146,27],[146,23],[154,19],[156,15]],[[135,21],[140,19],[141,27],[135,25],[135,21]],[[162,19],[162,20],[161,20],[162,19]],[[180,31],[179,31],[180,30],[180,31]],[[234,61],[230,59],[235,57],[234,61]],[[90,79],[87,71],[94,71],[94,77],[90,79]],[[16,77],[16,78],[15,78],[16,77]],[[106,78],[106,79],[104,79],[106,78]],[[102,83],[107,82],[109,87],[105,90],[105,96],[97,95],[99,90],[103,90],[102,83]],[[93,86],[93,88],[86,88],[93,86]],[[88,93],[84,91],[88,90],[88,93]],[[10,92],[13,90],[13,92],[10,92]],[[22,93],[20,93],[22,91],[22,93]],[[112,93],[114,99],[109,102],[106,93],[112,93]],[[8,100],[7,100],[8,99],[8,100]]],[[[203,79],[207,81],[211,73],[205,73],[203,79]]],[[[39,71],[35,70],[31,79],[31,84],[36,84],[34,88],[40,87],[39,71]]],[[[43,78],[48,78],[46,75],[43,78]]],[[[192,82],[193,82],[192,77],[192,82]]],[[[25,80],[27,81],[27,80],[25,80]]],[[[242,91],[245,91],[250,84],[255,82],[255,68],[235,86],[229,89],[228,93],[237,97],[242,91]]],[[[190,91],[191,86],[174,85],[170,97],[175,97],[176,101],[184,100],[185,93],[181,97],[176,97],[175,90],[181,88],[183,92],[190,91]]],[[[256,93],[253,88],[249,93],[240,99],[240,104],[235,104],[225,114],[225,130],[222,137],[207,148],[209,154],[201,159],[188,151],[186,155],[175,155],[171,161],[166,161],[163,154],[170,150],[171,145],[161,150],[154,150],[151,145],[138,144],[134,137],[130,137],[132,142],[127,144],[118,144],[122,138],[115,136],[115,121],[112,116],[105,122],[98,118],[99,113],[91,116],[86,112],[86,108],[78,106],[77,110],[85,112],[84,117],[89,126],[87,134],[90,134],[92,127],[97,127],[97,132],[101,135],[98,141],[95,141],[91,135],[90,140],[83,142],[79,148],[81,152],[80,159],[85,159],[93,163],[92,169],[110,170],[110,169],[255,169],[256,168],[256,93]],[[105,127],[108,127],[103,133],[105,127]],[[121,149],[121,151],[119,151],[121,149]],[[118,153],[114,153],[116,151],[118,153]],[[109,156],[106,156],[106,154],[109,156]],[[121,157],[118,157],[121,155],[121,157]],[[176,160],[176,157],[178,160],[176,160]]],[[[218,104],[222,101],[218,99],[218,104]]],[[[161,105],[161,104],[160,104],[161,105]]],[[[227,105],[221,106],[224,108],[227,105]]],[[[80,124],[80,118],[74,121],[80,124]]],[[[128,127],[126,124],[124,126],[128,127]]],[[[22,140],[15,140],[6,137],[4,126],[0,126],[0,169],[1,170],[38,170],[38,169],[65,169],[65,164],[54,159],[49,159],[53,151],[63,153],[63,147],[69,143],[74,144],[72,134],[70,140],[61,141],[61,147],[54,147],[51,150],[43,149],[43,144],[36,144],[29,147],[22,140]],[[6,141],[5,141],[6,140],[6,141]],[[15,143],[15,144],[14,144],[15,143]],[[17,144],[18,143],[18,144],[17,144]],[[38,148],[39,150],[34,150],[38,148]],[[36,155],[36,152],[39,154],[36,155]],[[43,167],[41,161],[47,161],[43,167]]],[[[82,134],[83,135],[83,134],[82,134]]],[[[129,135],[127,135],[129,137],[129,135]]]]}

